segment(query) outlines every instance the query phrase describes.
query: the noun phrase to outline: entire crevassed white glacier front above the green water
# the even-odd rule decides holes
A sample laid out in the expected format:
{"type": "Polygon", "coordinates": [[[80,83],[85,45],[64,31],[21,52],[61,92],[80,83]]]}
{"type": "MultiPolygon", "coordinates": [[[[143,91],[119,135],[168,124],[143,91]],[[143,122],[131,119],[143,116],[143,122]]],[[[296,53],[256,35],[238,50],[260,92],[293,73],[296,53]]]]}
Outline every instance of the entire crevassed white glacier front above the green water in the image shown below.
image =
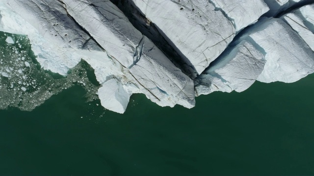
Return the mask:
{"type": "MultiPolygon", "coordinates": [[[[0,31],[27,36],[41,69],[63,77],[62,88],[70,80],[89,86],[105,109],[124,113],[133,93],[193,108],[195,96],[313,73],[313,14],[310,0],[2,0],[0,31]],[[82,61],[97,86],[71,73],[82,61]]],[[[18,63],[17,70],[33,67],[18,63]]],[[[0,81],[11,79],[10,66],[1,63],[0,81]]],[[[32,88],[21,85],[18,94],[31,99],[32,88]]]]}

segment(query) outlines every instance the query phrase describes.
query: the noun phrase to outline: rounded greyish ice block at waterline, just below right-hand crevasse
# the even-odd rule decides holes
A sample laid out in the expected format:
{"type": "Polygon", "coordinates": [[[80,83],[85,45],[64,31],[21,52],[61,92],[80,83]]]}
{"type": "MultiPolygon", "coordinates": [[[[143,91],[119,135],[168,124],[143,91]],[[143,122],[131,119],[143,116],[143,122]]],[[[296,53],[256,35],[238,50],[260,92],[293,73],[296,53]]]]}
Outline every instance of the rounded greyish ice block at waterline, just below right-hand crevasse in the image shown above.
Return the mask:
{"type": "Polygon", "coordinates": [[[262,73],[265,56],[248,41],[241,41],[198,77],[196,95],[213,91],[241,92],[249,88],[262,73]]]}

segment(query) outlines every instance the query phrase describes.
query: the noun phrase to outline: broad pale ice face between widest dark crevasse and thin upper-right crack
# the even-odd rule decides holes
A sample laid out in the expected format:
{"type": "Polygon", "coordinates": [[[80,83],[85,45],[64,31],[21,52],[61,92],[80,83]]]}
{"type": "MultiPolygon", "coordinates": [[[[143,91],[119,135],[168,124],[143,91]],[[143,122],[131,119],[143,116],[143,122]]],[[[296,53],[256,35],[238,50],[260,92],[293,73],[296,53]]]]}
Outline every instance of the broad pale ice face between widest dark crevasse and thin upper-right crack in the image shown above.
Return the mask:
{"type": "Polygon", "coordinates": [[[133,0],[200,74],[235,36],[235,27],[209,0],[133,0]]]}

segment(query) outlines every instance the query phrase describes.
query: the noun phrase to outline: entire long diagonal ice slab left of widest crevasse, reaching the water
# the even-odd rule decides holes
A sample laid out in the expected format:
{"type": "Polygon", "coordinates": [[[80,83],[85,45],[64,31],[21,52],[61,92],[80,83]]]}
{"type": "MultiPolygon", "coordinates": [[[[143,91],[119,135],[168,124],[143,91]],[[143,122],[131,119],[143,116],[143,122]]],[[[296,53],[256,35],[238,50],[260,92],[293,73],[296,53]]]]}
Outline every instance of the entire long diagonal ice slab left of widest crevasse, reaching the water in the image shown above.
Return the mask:
{"type": "Polygon", "coordinates": [[[122,64],[127,78],[149,99],[160,106],[194,106],[193,81],[135,29],[109,0],[64,2],[68,13],[89,31],[110,57],[122,64]]]}

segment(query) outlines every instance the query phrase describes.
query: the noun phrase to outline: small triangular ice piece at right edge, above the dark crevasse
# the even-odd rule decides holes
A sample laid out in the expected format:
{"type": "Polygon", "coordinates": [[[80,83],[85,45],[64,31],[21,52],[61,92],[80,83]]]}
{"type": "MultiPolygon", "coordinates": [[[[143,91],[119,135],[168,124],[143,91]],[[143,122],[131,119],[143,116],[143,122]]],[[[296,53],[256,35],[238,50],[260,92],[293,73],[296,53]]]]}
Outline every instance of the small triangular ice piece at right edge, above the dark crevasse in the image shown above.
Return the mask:
{"type": "Polygon", "coordinates": [[[314,51],[314,4],[305,5],[281,17],[314,51]]]}

